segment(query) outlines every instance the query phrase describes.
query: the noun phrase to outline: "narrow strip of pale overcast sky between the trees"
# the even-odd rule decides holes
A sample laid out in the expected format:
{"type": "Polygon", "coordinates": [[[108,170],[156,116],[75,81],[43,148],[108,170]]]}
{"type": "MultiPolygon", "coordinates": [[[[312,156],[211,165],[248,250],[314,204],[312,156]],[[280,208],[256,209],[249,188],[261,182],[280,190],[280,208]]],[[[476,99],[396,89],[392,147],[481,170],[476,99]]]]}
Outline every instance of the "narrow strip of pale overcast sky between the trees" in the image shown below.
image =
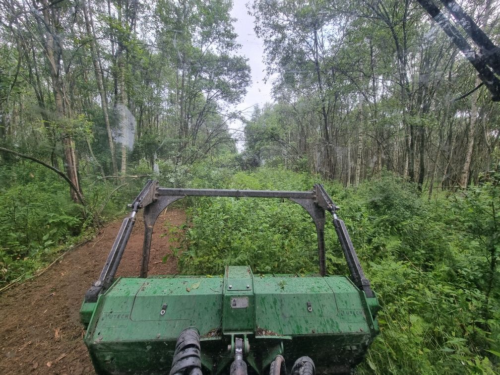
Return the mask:
{"type": "MultiPolygon", "coordinates": [[[[253,105],[263,104],[271,101],[271,83],[264,83],[265,65],[262,62],[263,45],[253,32],[253,17],[248,15],[245,2],[248,0],[233,0],[234,5],[231,10],[231,17],[237,20],[233,23],[234,30],[238,34],[236,41],[241,44],[238,54],[248,58],[251,68],[251,84],[246,88],[246,96],[243,101],[236,106],[238,110],[244,110],[245,116],[250,117],[253,105]]],[[[234,123],[232,127],[241,128],[241,123],[234,123]]],[[[237,135],[237,134],[235,134],[237,135]]],[[[238,142],[238,149],[242,144],[238,142]]]]}

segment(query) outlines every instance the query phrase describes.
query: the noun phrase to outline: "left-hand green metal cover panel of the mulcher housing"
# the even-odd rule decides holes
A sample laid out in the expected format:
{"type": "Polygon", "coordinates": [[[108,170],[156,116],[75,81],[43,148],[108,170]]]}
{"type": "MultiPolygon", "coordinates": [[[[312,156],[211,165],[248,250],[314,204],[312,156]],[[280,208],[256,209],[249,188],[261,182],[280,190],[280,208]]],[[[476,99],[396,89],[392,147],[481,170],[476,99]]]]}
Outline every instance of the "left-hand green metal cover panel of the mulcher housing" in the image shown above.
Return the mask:
{"type": "Polygon", "coordinates": [[[220,326],[221,304],[220,278],[120,278],[99,297],[85,341],[176,339],[190,325],[205,335],[220,326]]]}

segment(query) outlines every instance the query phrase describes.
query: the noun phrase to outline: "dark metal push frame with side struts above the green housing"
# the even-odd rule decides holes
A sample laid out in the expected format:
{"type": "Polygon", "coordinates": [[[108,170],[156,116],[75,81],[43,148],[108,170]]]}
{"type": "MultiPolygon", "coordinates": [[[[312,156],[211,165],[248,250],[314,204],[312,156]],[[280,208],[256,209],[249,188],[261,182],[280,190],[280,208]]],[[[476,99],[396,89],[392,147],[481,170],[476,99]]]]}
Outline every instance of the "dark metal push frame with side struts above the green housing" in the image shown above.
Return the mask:
{"type": "Polygon", "coordinates": [[[272,190],[227,190],[227,189],[182,189],[158,187],[157,181],[149,180],[135,200],[129,204],[132,212],[127,216],[118,235],[114,240],[111,251],[97,281],[85,294],[85,301],[97,300],[99,293],[105,291],[110,285],[123,255],[128,238],[135,223],[135,213],[139,208],[144,208],[144,243],[142,246],[142,264],[140,277],[147,277],[149,263],[149,250],[151,247],[151,236],[154,223],[159,214],[176,200],[186,196],[223,196],[240,198],[287,198],[300,204],[309,213],[316,226],[319,273],[326,274],[326,262],[324,252],[324,223],[325,210],[333,216],[333,225],[342,247],[347,266],[349,268],[352,282],[364,291],[367,297],[373,296],[369,281],[364,276],[359,259],[350,240],[345,224],[336,215],[338,207],[332,202],[329,195],[320,184],[315,184],[311,191],[272,191],[272,190]]]}

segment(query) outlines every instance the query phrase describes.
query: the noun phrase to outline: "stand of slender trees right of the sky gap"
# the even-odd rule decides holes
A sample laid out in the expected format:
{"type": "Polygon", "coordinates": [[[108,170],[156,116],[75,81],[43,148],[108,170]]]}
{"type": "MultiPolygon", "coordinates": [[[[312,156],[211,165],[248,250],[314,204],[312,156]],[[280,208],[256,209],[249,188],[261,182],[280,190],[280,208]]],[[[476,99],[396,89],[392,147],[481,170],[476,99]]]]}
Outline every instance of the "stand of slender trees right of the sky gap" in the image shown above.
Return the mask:
{"type": "MultiPolygon", "coordinates": [[[[498,34],[498,8],[469,1],[498,34]]],[[[392,170],[420,189],[466,186],[498,162],[499,106],[413,1],[256,1],[275,102],[245,128],[257,160],[355,184],[392,170]]]]}

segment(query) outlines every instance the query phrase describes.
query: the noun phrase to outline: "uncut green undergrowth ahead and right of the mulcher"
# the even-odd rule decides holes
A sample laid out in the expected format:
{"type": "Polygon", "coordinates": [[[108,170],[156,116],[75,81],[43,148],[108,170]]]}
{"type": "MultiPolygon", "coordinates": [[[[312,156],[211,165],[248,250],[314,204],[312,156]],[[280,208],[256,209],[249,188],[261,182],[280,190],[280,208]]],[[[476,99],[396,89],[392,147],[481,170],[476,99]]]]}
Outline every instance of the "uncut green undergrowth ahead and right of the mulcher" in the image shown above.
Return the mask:
{"type": "MultiPolygon", "coordinates": [[[[315,176],[282,169],[237,172],[216,186],[308,190],[315,176]]],[[[324,182],[324,181],[323,181],[324,182]]],[[[366,275],[381,304],[381,334],[359,373],[497,373],[499,347],[498,175],[466,194],[421,197],[391,174],[357,189],[325,182],[341,207],[366,275]]],[[[254,273],[317,272],[314,225],[297,204],[279,199],[196,198],[177,231],[182,273],[220,274],[225,264],[254,273]]],[[[330,218],[328,272],[346,274],[330,218]]]]}

